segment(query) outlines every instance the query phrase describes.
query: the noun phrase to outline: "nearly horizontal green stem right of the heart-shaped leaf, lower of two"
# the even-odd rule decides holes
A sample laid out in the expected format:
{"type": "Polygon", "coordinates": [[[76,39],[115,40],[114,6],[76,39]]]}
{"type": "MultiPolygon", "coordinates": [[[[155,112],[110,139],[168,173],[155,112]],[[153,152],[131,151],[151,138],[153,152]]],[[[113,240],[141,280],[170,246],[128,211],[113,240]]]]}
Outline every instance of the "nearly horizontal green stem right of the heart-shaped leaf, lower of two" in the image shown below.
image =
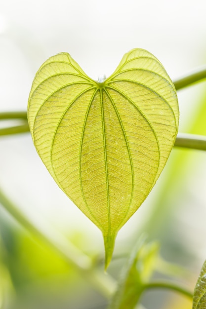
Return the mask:
{"type": "Polygon", "coordinates": [[[206,136],[179,133],[174,146],[206,151],[206,136]]]}

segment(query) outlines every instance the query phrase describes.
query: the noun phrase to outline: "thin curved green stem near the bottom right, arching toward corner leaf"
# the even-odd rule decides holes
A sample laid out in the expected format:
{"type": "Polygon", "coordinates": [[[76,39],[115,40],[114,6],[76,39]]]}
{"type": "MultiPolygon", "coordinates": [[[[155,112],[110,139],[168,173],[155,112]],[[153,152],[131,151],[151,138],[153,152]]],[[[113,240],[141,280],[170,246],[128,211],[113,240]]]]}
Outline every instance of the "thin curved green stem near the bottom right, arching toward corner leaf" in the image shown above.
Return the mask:
{"type": "Polygon", "coordinates": [[[181,293],[191,300],[193,299],[193,293],[181,286],[178,286],[171,282],[164,282],[164,281],[157,281],[157,282],[150,282],[144,285],[144,290],[154,289],[154,288],[161,288],[161,289],[169,289],[178,293],[181,293]]]}

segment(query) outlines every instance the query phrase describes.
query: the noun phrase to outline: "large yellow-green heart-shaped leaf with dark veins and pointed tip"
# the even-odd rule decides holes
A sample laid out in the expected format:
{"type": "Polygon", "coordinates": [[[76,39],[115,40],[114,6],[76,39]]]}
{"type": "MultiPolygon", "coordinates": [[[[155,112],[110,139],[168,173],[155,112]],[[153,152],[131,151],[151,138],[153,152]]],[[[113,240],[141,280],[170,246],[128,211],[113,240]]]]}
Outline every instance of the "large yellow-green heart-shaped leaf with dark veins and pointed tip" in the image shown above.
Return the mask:
{"type": "Polygon", "coordinates": [[[178,126],[174,85],[151,53],[133,49],[94,81],[67,53],[34,79],[28,120],[59,187],[102,231],[107,266],[117,232],[162,172],[178,126]]]}

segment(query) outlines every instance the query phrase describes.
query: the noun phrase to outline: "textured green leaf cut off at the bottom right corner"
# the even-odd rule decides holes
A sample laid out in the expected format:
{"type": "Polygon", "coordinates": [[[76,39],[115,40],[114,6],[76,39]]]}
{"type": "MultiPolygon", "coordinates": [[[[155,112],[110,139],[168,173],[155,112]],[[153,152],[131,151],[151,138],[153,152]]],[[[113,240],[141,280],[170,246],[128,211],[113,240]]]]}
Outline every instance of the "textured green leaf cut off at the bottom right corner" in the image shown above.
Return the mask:
{"type": "Polygon", "coordinates": [[[195,286],[192,309],[206,309],[206,261],[195,286]]]}

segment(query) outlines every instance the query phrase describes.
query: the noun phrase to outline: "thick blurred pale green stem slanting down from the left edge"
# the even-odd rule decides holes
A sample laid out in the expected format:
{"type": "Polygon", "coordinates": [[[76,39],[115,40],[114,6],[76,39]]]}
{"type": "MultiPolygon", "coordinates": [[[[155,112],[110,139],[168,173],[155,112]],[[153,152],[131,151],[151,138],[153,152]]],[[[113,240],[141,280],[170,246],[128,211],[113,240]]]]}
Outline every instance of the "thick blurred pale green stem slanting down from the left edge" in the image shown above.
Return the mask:
{"type": "Polygon", "coordinates": [[[91,259],[64,237],[62,233],[57,230],[53,231],[53,228],[49,227],[46,220],[41,222],[40,217],[35,220],[34,214],[32,218],[28,218],[1,191],[0,204],[20,225],[43,240],[67,262],[72,264],[96,290],[107,298],[111,297],[116,289],[116,281],[108,274],[105,275],[102,271],[94,269],[91,259]]]}

